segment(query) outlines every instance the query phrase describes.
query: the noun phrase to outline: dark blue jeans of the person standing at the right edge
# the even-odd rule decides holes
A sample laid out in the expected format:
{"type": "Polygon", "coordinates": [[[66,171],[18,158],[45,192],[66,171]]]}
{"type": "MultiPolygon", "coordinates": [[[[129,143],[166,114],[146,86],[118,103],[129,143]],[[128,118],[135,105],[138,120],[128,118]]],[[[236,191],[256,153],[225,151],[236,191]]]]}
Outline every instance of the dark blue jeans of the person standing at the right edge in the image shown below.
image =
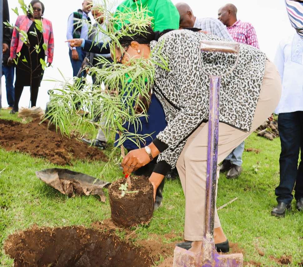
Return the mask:
{"type": "Polygon", "coordinates": [[[275,194],[278,202],[289,204],[293,199],[294,186],[295,199],[303,198],[303,111],[280,113],[278,126],[281,140],[280,184],[275,194]]]}

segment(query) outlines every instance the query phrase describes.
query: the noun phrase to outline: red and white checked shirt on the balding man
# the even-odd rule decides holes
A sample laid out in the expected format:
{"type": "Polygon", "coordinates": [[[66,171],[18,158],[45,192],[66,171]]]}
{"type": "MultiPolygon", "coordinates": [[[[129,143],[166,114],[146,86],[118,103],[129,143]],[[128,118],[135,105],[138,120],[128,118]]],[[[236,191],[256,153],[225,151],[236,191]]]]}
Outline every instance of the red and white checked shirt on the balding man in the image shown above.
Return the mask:
{"type": "Polygon", "coordinates": [[[232,38],[242,44],[248,44],[253,47],[259,47],[256,30],[252,24],[237,20],[232,26],[226,27],[232,38]]]}

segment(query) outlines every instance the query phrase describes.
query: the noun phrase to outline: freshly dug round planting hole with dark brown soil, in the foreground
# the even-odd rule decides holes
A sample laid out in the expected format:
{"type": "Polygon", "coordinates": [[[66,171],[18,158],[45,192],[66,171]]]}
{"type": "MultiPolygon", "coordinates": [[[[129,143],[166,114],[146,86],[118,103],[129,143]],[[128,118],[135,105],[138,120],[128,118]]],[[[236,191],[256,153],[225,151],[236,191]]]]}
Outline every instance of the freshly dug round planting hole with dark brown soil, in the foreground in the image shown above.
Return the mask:
{"type": "Polygon", "coordinates": [[[10,235],[4,250],[15,267],[144,267],[152,260],[144,248],[115,235],[81,226],[33,228],[10,235]]]}

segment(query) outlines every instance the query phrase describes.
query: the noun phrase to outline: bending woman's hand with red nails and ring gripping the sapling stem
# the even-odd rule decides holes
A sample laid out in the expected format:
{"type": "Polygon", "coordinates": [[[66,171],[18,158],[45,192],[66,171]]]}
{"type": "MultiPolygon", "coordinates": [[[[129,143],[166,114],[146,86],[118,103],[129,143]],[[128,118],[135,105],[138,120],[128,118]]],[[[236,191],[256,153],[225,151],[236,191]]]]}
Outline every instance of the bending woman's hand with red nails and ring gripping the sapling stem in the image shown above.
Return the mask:
{"type": "Polygon", "coordinates": [[[138,170],[140,167],[148,164],[149,162],[150,158],[145,152],[144,148],[134,149],[127,153],[121,163],[121,167],[123,167],[123,174],[125,174],[125,177],[128,177],[132,171],[138,170]]]}

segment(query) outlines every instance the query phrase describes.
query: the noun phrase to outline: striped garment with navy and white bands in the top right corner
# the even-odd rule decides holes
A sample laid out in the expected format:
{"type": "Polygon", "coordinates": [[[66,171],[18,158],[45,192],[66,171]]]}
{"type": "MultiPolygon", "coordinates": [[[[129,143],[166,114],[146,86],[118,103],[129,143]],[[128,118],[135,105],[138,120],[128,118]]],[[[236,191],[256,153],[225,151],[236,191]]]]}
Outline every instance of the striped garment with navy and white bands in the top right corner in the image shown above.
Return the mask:
{"type": "Polygon", "coordinates": [[[292,27],[303,38],[303,1],[285,0],[285,4],[292,27]]]}

